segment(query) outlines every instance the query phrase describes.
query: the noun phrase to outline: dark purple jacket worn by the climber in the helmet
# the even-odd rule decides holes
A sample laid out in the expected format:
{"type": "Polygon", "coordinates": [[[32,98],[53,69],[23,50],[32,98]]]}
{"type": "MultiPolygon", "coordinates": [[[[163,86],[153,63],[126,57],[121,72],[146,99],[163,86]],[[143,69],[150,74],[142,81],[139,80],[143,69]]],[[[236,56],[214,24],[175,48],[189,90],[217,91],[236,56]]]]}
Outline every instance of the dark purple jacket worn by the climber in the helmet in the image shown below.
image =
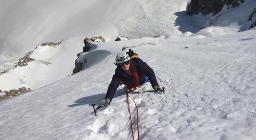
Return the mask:
{"type": "MultiPolygon", "coordinates": [[[[137,73],[139,75],[139,83],[142,85],[145,83],[145,75],[148,77],[152,87],[158,85],[156,80],[156,75],[151,67],[147,65],[147,63],[143,62],[140,58],[132,58],[131,61],[135,64],[137,68],[137,73]]],[[[112,101],[112,98],[115,95],[117,88],[119,87],[120,83],[123,82],[125,84],[134,84],[133,76],[130,76],[128,73],[125,72],[121,67],[117,66],[115,69],[115,74],[112,77],[112,81],[109,84],[109,88],[105,97],[112,101]]],[[[159,85],[158,85],[159,86],[159,85]]]]}

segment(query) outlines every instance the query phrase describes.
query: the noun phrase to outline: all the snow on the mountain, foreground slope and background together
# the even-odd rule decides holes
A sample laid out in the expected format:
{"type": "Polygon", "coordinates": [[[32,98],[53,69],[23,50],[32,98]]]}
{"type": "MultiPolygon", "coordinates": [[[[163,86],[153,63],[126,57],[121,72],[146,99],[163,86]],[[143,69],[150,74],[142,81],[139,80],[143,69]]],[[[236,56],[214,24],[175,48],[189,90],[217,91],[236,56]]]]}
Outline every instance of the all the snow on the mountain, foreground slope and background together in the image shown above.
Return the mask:
{"type": "Polygon", "coordinates": [[[256,2],[214,17],[186,15],[188,2],[2,0],[0,72],[9,71],[0,75],[0,89],[32,91],[0,102],[0,140],[132,139],[124,85],[97,116],[91,106],[102,104],[123,47],[166,89],[155,93],[145,83],[129,93],[135,139],[132,99],[141,140],[255,140],[256,29],[238,31],[251,23],[256,2]],[[99,35],[107,42],[81,54],[85,68],[71,75],[83,39],[99,35]],[[120,36],[140,39],[112,42],[120,36]],[[12,69],[31,50],[35,61],[12,69]]]}

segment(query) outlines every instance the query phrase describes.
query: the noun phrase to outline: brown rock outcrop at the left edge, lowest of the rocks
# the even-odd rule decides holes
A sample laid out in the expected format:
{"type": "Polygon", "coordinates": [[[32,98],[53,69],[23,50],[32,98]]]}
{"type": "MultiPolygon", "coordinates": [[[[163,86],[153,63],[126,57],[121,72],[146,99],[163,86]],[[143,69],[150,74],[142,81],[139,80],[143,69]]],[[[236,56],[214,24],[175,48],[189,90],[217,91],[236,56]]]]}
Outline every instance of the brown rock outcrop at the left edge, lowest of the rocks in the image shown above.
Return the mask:
{"type": "MultiPolygon", "coordinates": [[[[2,92],[2,91],[0,91],[0,92],[2,92]]],[[[0,96],[0,102],[3,100],[7,100],[9,98],[18,96],[20,94],[26,93],[26,92],[28,92],[28,91],[27,91],[27,88],[25,88],[25,87],[19,88],[18,90],[5,91],[5,95],[0,96]]]]}

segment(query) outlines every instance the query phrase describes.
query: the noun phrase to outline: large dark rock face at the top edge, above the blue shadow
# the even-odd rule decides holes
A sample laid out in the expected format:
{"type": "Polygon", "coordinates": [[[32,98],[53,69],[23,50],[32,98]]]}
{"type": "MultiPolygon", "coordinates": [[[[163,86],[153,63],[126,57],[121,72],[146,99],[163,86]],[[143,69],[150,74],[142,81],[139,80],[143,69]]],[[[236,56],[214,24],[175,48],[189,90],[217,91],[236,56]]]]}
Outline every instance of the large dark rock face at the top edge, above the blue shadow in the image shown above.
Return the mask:
{"type": "Polygon", "coordinates": [[[198,13],[216,15],[222,10],[223,5],[227,5],[229,9],[229,7],[238,7],[243,2],[244,0],[191,0],[186,7],[186,13],[188,15],[198,13]]]}

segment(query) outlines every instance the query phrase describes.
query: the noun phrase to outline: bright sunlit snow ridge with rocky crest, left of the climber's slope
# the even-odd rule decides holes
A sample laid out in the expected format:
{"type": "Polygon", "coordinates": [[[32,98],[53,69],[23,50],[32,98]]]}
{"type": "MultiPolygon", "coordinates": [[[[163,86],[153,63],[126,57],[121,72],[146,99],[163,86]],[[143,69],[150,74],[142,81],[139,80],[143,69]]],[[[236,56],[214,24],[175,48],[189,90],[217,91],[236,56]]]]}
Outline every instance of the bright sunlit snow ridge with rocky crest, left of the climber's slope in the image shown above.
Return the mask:
{"type": "Polygon", "coordinates": [[[26,87],[34,90],[67,77],[72,73],[75,54],[82,50],[79,42],[76,44],[58,42],[38,45],[10,70],[0,75],[0,89],[8,91],[26,87]]]}

